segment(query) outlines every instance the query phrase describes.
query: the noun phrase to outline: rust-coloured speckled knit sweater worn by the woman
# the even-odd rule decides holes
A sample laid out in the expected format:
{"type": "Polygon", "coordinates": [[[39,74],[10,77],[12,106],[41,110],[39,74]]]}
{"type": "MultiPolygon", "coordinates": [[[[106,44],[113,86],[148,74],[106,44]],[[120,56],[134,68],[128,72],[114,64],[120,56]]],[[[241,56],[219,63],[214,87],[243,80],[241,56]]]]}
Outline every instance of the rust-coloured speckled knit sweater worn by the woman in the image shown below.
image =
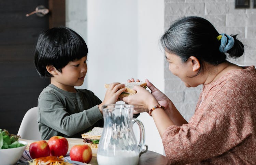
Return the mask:
{"type": "Polygon", "coordinates": [[[165,130],[172,164],[256,164],[256,70],[232,70],[203,85],[188,124],[165,130]]]}

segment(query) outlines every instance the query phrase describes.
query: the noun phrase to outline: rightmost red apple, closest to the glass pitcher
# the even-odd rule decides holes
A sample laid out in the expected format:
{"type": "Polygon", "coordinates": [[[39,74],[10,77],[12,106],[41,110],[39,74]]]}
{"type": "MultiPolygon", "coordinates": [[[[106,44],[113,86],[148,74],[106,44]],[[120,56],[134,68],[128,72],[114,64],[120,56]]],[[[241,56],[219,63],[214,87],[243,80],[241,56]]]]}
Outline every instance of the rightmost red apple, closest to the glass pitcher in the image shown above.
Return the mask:
{"type": "Polygon", "coordinates": [[[88,145],[74,145],[70,150],[70,158],[72,161],[90,163],[93,152],[88,145]]]}

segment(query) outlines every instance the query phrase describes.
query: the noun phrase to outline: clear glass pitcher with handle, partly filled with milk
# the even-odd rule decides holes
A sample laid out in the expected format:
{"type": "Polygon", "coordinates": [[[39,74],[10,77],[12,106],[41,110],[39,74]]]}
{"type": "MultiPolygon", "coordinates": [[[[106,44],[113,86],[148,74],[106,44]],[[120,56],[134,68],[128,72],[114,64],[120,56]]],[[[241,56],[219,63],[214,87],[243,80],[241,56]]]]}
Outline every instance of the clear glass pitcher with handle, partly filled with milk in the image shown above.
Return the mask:
{"type": "Polygon", "coordinates": [[[137,165],[140,154],[147,151],[144,126],[133,118],[133,109],[128,104],[102,106],[104,127],[97,152],[99,165],[137,165]],[[140,129],[139,144],[132,129],[134,122],[140,129]],[[141,152],[144,146],[146,150],[141,152]]]}

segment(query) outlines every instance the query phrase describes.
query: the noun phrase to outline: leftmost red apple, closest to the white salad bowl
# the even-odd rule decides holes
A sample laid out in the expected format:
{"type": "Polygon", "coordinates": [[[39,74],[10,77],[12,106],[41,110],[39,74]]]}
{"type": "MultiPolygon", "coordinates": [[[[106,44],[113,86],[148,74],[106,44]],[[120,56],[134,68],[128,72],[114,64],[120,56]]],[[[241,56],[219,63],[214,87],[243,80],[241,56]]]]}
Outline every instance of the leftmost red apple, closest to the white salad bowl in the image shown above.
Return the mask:
{"type": "Polygon", "coordinates": [[[32,142],[29,146],[29,154],[32,159],[50,155],[50,148],[45,140],[32,142]]]}

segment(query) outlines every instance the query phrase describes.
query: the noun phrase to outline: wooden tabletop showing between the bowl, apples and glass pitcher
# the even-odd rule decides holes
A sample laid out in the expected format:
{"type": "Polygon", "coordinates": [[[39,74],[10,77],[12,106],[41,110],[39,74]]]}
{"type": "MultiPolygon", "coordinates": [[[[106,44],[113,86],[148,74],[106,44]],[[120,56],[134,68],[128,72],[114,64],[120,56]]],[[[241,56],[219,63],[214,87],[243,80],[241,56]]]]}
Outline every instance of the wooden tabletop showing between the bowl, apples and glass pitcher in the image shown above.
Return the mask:
{"type": "MultiPolygon", "coordinates": [[[[66,138],[66,139],[69,142],[69,151],[74,145],[84,144],[82,138],[66,138]]],[[[26,140],[26,139],[20,139],[20,140],[26,141],[28,143],[26,150],[29,150],[30,144],[35,141],[35,140],[26,140]]],[[[92,148],[92,151],[93,151],[93,158],[91,159],[90,164],[98,165],[97,149],[92,148]]],[[[159,153],[156,153],[153,151],[147,151],[146,153],[143,153],[140,156],[138,165],[170,165],[170,160],[166,156],[163,156],[159,153]]]]}

